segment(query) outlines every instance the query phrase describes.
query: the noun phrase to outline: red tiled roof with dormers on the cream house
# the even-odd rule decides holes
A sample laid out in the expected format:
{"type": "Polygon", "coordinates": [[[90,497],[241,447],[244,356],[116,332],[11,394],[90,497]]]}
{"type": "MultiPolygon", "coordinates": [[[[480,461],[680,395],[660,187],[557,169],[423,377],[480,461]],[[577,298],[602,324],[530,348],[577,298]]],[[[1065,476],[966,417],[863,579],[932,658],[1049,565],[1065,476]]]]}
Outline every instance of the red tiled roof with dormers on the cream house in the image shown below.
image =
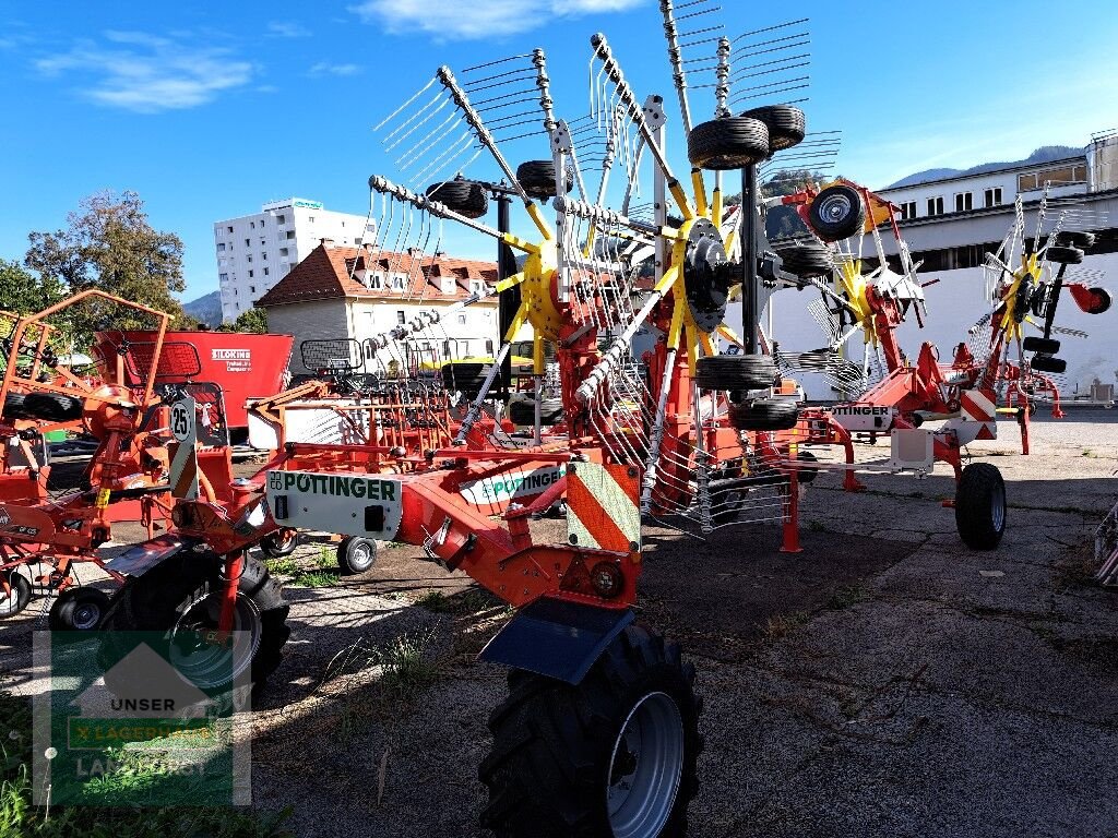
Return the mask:
{"type": "Polygon", "coordinates": [[[471,279],[492,285],[496,282],[496,263],[319,245],[256,305],[263,308],[340,297],[454,302],[470,296],[471,279]],[[369,288],[358,280],[356,273],[366,269],[381,274],[381,288],[369,288]],[[407,287],[389,288],[385,279],[388,274],[404,274],[407,287]],[[444,277],[454,279],[454,294],[443,293],[444,277]]]}

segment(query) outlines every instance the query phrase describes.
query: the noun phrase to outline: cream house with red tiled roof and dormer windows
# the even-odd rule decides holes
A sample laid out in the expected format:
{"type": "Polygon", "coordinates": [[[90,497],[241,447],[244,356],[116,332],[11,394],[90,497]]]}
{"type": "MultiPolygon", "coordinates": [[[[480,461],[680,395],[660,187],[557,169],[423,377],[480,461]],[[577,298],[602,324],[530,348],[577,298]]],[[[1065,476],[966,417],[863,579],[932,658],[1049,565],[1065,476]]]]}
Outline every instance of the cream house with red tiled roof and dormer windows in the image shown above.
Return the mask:
{"type": "Polygon", "coordinates": [[[256,305],[267,312],[268,331],[294,335],[293,374],[334,363],[382,372],[394,361],[492,356],[500,345],[496,297],[448,310],[486,293],[495,282],[495,263],[344,247],[324,239],[256,305]],[[367,343],[420,312],[437,312],[439,321],[408,341],[407,351],[390,347],[378,355],[367,343]]]}

